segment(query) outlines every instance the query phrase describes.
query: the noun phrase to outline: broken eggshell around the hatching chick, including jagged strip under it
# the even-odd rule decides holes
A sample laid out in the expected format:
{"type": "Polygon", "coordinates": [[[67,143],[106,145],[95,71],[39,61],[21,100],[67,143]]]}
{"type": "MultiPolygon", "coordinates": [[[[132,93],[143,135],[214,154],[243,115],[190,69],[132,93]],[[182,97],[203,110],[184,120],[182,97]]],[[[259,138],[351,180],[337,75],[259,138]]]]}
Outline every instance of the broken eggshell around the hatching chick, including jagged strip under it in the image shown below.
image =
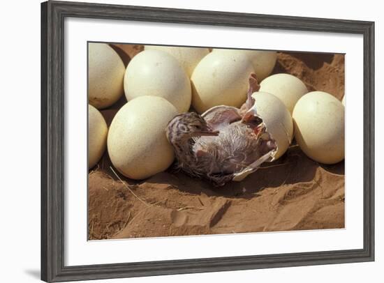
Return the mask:
{"type": "Polygon", "coordinates": [[[265,127],[265,139],[275,142],[276,149],[265,153],[257,160],[257,164],[235,174],[233,181],[242,181],[246,176],[255,171],[256,166],[263,162],[272,162],[283,155],[293,138],[293,121],[286,106],[271,93],[255,92],[252,94],[255,103],[244,116],[260,118],[265,127]]]}

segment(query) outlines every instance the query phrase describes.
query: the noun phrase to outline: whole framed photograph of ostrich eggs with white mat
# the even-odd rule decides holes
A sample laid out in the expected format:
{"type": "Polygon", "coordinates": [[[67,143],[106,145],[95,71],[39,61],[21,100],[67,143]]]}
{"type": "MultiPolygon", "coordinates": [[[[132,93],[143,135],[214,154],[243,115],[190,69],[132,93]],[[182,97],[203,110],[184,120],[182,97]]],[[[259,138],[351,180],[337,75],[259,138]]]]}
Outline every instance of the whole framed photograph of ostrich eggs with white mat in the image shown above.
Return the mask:
{"type": "Polygon", "coordinates": [[[41,5],[42,280],[374,261],[374,22],[41,5]]]}

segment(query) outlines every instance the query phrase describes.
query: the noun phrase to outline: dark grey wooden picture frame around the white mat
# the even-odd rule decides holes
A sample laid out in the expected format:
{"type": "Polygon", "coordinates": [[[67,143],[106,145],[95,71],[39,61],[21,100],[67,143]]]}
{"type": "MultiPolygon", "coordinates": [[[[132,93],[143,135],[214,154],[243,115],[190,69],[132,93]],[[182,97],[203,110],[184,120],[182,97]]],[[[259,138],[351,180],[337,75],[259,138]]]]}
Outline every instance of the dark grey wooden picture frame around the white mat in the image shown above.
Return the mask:
{"type": "Polygon", "coordinates": [[[41,4],[41,279],[46,282],[374,261],[374,22],[47,1],[41,4]],[[364,247],[333,250],[64,265],[64,19],[134,20],[357,33],[364,37],[364,247]]]}

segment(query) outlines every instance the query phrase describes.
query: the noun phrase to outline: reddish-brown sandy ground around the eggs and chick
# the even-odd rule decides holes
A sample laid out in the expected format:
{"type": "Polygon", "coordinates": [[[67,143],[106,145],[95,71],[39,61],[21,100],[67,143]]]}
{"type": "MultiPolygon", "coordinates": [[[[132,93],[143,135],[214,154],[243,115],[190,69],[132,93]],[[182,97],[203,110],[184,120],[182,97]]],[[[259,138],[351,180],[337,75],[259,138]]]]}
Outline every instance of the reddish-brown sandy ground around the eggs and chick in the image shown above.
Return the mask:
{"type": "MultiPolygon", "coordinates": [[[[124,63],[142,50],[114,48],[124,63]]],[[[299,77],[309,91],[344,95],[344,55],[282,52],[278,72],[299,77]]],[[[124,103],[102,111],[108,124],[124,103]]],[[[172,167],[138,182],[117,178],[110,166],[105,153],[89,172],[90,240],[344,228],[344,161],[320,165],[295,143],[276,162],[222,188],[172,167]]]]}

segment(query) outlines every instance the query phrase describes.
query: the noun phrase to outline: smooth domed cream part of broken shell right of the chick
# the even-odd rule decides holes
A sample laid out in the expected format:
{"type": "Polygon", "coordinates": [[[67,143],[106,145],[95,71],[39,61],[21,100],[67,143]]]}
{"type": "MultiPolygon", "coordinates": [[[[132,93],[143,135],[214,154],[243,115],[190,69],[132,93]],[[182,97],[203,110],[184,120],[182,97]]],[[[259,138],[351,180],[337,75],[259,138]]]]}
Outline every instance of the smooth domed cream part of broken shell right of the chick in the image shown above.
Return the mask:
{"type": "Polygon", "coordinates": [[[293,121],[288,109],[283,102],[271,93],[261,91],[253,93],[256,113],[263,119],[267,132],[277,144],[276,153],[272,160],[277,160],[283,155],[293,139],[293,121]]]}

